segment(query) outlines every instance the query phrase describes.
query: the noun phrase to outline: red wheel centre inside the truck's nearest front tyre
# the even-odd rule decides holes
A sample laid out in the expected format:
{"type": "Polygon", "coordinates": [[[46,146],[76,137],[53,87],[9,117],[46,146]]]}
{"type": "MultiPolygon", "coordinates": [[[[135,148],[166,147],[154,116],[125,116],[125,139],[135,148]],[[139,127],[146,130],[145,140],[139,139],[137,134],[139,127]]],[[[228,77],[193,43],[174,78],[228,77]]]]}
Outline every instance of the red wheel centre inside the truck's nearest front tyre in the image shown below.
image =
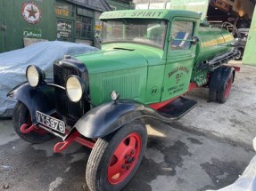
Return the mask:
{"type": "Polygon", "coordinates": [[[136,132],[128,134],[120,141],[108,165],[108,181],[111,185],[117,185],[128,177],[136,166],[141,147],[142,139],[136,132]]]}

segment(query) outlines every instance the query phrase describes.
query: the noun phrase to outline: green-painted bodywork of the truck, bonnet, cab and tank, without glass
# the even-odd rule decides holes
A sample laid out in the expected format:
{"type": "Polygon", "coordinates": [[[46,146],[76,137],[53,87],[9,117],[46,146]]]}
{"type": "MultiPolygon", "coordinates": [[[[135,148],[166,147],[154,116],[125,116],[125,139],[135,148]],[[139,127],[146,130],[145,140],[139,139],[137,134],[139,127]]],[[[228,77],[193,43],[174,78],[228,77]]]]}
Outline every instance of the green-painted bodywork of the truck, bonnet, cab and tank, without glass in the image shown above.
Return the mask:
{"type": "MultiPolygon", "coordinates": [[[[87,65],[90,97],[94,105],[109,101],[111,91],[120,92],[122,99],[136,99],[145,104],[175,98],[187,92],[191,82],[198,85],[206,83],[210,71],[197,69],[198,64],[231,49],[233,36],[219,28],[199,27],[200,17],[194,12],[167,10],[106,12],[101,19],[120,17],[122,20],[145,19],[146,12],[151,12],[150,19],[155,17],[169,20],[163,50],[145,44],[114,43],[103,44],[99,52],[76,57],[87,65]],[[169,50],[173,20],[192,22],[194,36],[199,37],[200,43],[190,45],[187,50],[169,50]]],[[[157,28],[153,28],[150,32],[154,32],[155,29],[157,28]]]]}

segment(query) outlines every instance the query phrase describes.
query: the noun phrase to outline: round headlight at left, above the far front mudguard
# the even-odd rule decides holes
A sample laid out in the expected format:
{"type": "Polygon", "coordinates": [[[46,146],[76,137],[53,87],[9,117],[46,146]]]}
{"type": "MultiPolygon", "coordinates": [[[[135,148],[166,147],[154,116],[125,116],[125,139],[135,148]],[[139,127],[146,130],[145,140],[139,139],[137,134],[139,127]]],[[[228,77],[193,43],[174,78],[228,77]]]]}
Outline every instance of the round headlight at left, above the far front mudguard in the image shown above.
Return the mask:
{"type": "Polygon", "coordinates": [[[37,87],[45,80],[45,73],[43,70],[34,65],[29,65],[26,70],[27,80],[29,85],[32,87],[37,87]]]}

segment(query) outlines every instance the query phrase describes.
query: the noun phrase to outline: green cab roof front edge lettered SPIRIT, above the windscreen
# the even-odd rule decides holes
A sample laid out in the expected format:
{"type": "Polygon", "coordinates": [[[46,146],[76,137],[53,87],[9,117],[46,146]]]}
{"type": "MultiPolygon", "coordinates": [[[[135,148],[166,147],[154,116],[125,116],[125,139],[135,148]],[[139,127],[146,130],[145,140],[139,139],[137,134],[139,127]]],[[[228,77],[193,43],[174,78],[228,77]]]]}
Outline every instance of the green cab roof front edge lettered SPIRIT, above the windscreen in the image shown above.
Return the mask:
{"type": "Polygon", "coordinates": [[[188,17],[200,19],[200,14],[184,10],[122,10],[113,12],[103,12],[100,20],[108,19],[163,19],[169,20],[172,17],[188,17]]]}

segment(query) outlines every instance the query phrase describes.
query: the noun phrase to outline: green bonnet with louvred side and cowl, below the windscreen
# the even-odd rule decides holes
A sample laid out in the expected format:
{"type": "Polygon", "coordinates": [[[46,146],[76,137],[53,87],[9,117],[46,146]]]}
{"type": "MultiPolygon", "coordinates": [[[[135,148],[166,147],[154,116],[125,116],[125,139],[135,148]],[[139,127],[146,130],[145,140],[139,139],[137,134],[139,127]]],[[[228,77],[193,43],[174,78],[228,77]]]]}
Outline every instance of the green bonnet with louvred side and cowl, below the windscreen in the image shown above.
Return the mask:
{"type": "MultiPolygon", "coordinates": [[[[112,90],[120,92],[121,98],[145,102],[145,89],[149,88],[146,87],[148,67],[157,65],[157,71],[163,72],[165,62],[162,56],[162,50],[145,45],[103,44],[102,51],[79,55],[77,59],[87,65],[92,102],[99,105],[110,100],[112,90]]],[[[162,79],[154,82],[159,89],[161,84],[162,79]]],[[[158,92],[153,98],[147,99],[159,101],[160,98],[161,93],[158,92]]]]}

